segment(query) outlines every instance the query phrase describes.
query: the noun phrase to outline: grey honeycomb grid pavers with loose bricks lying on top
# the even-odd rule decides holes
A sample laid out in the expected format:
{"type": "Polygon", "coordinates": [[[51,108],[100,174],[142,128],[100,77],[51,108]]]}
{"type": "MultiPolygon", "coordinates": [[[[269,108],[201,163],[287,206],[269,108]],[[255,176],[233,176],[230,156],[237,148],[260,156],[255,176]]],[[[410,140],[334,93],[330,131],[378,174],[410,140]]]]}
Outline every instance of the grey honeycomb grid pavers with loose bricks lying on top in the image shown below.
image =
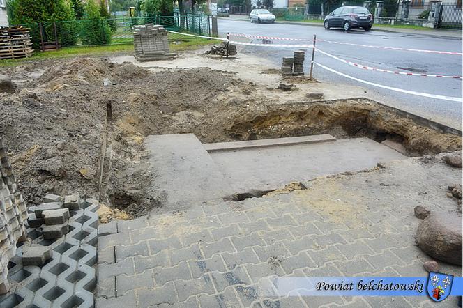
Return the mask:
{"type": "Polygon", "coordinates": [[[0,296],[0,307],[94,307],[99,203],[79,194],[48,194],[43,200],[29,207],[31,216],[44,226],[66,221],[69,231],[46,239],[42,227],[26,229],[29,240],[10,261],[11,288],[0,296]]]}

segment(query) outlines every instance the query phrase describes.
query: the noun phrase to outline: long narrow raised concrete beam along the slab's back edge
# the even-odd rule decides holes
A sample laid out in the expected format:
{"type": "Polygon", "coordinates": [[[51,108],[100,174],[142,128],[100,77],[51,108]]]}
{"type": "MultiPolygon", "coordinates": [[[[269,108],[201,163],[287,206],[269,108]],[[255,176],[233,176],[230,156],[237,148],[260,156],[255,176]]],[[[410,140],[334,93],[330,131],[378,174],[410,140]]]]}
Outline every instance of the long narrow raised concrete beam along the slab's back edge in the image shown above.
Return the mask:
{"type": "Polygon", "coordinates": [[[245,148],[266,148],[269,146],[294,146],[296,144],[318,144],[319,142],[336,141],[331,134],[317,134],[314,136],[287,137],[275,139],[246,140],[236,142],[217,142],[203,144],[208,153],[216,151],[231,151],[245,148]]]}

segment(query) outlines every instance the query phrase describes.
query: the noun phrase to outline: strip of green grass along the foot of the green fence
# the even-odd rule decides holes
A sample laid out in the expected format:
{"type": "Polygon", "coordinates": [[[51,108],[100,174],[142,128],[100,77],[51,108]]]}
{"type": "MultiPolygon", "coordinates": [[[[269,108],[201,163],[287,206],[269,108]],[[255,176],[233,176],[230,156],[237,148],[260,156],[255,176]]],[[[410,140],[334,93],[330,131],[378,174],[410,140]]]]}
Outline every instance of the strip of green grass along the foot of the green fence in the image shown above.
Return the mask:
{"type": "MultiPolygon", "coordinates": [[[[180,52],[183,50],[196,49],[206,45],[220,43],[219,40],[209,40],[207,38],[193,38],[169,43],[172,52],[180,52]]],[[[60,59],[71,58],[73,56],[103,56],[114,53],[133,52],[133,44],[117,44],[117,45],[100,45],[100,46],[73,46],[63,47],[59,50],[50,52],[34,52],[29,58],[21,59],[4,59],[0,60],[0,67],[16,66],[24,61],[41,60],[41,59],[60,59]]]]}

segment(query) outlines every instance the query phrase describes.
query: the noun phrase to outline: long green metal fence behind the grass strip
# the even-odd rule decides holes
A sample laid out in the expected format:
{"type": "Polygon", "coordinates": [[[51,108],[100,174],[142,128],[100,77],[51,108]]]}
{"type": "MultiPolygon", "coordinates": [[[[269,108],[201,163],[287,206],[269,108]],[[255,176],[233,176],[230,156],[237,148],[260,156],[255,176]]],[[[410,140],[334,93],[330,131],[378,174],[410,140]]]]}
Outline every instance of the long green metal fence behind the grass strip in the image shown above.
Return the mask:
{"type": "MultiPolygon", "coordinates": [[[[172,16],[39,22],[22,26],[30,29],[34,49],[47,50],[61,46],[132,43],[132,26],[140,24],[161,24],[170,31],[211,36],[211,16],[175,13],[172,16]]],[[[195,38],[169,33],[168,39],[190,40],[195,38]]]]}

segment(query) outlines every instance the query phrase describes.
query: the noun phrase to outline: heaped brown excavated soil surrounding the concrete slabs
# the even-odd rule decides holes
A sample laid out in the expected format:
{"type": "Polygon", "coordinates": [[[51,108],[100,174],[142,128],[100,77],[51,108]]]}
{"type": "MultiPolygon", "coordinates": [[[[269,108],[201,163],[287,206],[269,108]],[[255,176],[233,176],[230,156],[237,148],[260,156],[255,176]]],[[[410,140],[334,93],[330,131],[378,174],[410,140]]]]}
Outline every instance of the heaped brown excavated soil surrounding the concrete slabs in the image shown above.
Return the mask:
{"type": "Polygon", "coordinates": [[[194,133],[211,143],[329,133],[391,139],[410,153],[462,145],[460,136],[423,128],[366,99],[293,102],[294,96],[208,68],[150,72],[68,59],[0,73],[16,86],[0,97],[0,134],[29,203],[77,190],[130,217],[162,206],[150,185],[156,175],[146,168],[149,134],[194,133]],[[103,86],[104,79],[112,85],[103,86]]]}

